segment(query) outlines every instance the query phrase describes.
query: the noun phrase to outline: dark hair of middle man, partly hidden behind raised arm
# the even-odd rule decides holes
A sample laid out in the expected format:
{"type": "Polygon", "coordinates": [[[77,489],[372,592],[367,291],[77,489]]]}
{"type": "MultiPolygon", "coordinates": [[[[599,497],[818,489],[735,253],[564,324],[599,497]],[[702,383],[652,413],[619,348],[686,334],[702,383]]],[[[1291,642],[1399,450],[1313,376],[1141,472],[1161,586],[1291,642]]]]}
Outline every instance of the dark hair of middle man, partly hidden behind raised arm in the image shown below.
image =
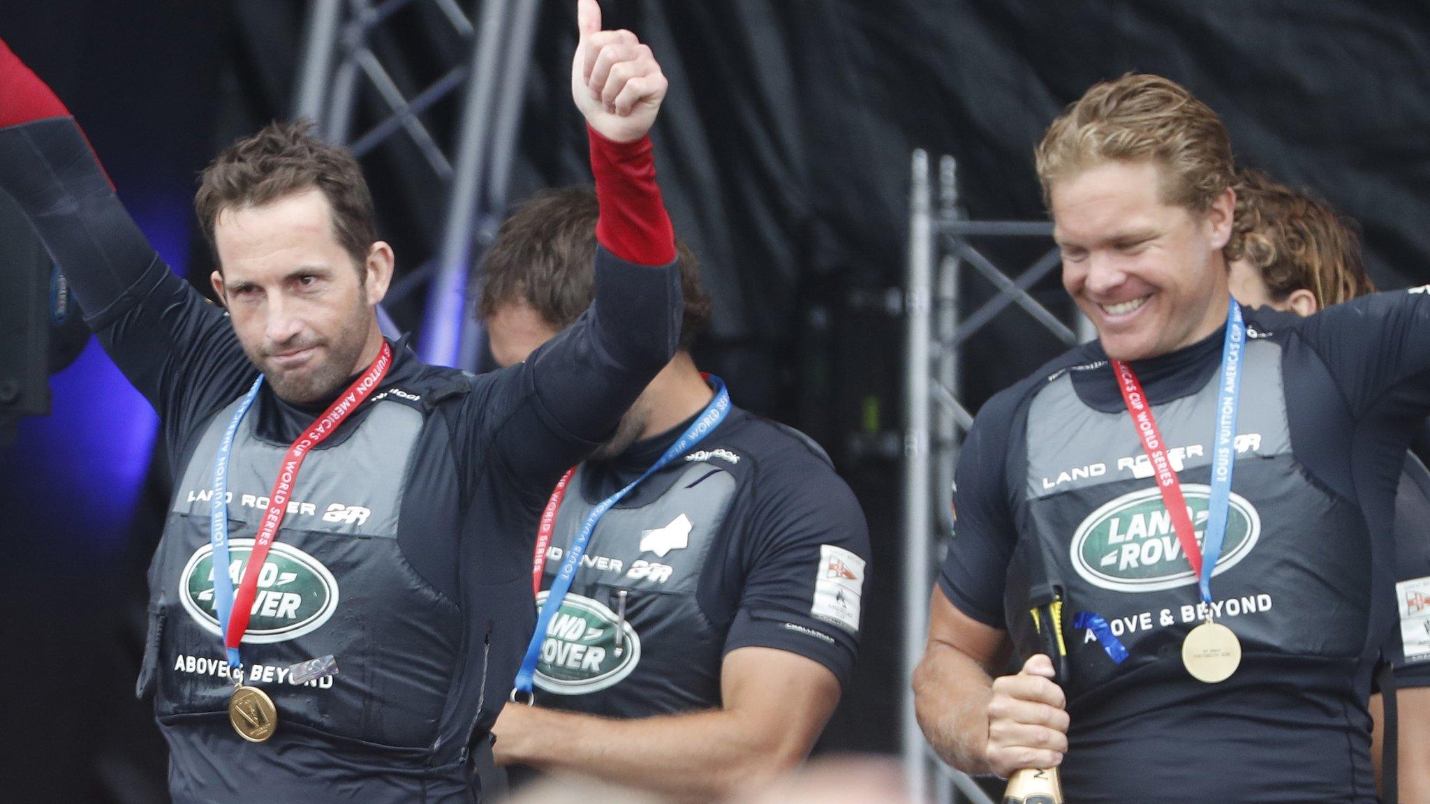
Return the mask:
{"type": "MultiPolygon", "coordinates": [[[[496,242],[486,250],[485,282],[476,315],[486,320],[518,300],[525,300],[551,326],[566,329],[591,306],[595,296],[596,219],[601,206],[589,187],[542,190],[502,222],[496,242]]],[[[701,286],[701,268],[681,240],[681,350],[711,322],[711,298],[701,286]]]]}

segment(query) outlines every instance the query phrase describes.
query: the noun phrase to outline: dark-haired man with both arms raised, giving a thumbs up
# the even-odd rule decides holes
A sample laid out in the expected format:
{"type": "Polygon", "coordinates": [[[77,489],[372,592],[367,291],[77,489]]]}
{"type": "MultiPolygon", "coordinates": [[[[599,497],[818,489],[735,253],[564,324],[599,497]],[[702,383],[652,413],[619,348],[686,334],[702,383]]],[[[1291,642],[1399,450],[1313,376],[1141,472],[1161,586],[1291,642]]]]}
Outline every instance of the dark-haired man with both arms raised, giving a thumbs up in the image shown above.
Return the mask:
{"type": "Polygon", "coordinates": [[[480,376],[383,338],[395,255],[346,149],[275,123],[204,170],[214,306],[159,259],[79,124],[0,43],[0,192],[167,436],[174,491],[136,687],[169,744],[174,804],[472,803],[470,747],[535,629],[546,495],[679,335],[645,137],[665,82],[648,50],[601,39],[592,0],[581,16],[593,299],[480,376]]]}

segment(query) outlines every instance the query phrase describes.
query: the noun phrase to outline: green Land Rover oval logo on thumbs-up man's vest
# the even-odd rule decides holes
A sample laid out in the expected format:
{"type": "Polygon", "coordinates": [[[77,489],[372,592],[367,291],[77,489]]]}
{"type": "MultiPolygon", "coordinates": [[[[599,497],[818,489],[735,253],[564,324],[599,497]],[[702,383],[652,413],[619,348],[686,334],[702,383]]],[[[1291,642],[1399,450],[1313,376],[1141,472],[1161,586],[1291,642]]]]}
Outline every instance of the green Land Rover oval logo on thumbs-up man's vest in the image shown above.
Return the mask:
{"type": "MultiPolygon", "coordinates": [[[[237,591],[249,565],[253,539],[229,542],[229,578],[237,591]]],[[[219,634],[213,602],[213,545],[203,545],[183,568],[179,599],[204,631],[219,634]]],[[[283,542],[273,542],[253,598],[253,614],[243,641],[285,642],[320,628],[337,609],[337,581],[316,558],[283,542]]]]}

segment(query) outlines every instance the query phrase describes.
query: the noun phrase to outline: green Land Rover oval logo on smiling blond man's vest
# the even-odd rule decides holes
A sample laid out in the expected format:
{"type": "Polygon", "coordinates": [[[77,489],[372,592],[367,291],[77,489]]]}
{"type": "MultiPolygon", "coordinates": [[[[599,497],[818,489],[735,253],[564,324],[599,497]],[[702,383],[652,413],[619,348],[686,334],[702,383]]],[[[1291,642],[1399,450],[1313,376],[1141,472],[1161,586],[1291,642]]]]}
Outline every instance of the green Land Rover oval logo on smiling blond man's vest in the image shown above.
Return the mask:
{"type": "MultiPolygon", "coordinates": [[[[1185,484],[1181,494],[1200,545],[1207,525],[1210,489],[1185,484]]],[[[1233,494],[1221,559],[1213,577],[1246,558],[1260,535],[1261,516],[1244,496],[1233,494]]],[[[1104,589],[1155,592],[1197,582],[1155,486],[1124,494],[1083,519],[1072,535],[1071,555],[1078,575],[1104,589]]]]}

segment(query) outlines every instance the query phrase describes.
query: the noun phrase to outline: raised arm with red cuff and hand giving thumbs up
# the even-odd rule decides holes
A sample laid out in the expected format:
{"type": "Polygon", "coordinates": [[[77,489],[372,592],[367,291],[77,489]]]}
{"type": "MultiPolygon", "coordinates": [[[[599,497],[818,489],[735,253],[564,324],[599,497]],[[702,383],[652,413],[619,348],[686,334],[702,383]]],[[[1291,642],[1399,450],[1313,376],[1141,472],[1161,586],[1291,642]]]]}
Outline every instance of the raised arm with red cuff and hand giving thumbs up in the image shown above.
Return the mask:
{"type": "MultiPolygon", "coordinates": [[[[576,325],[526,362],[545,415],[589,452],[671,361],[684,299],[675,233],[655,183],[648,136],[665,97],[665,76],[633,33],[601,29],[595,0],[581,0],[578,20],[572,99],[586,119],[601,210],[593,299],[576,325]]],[[[506,465],[513,475],[538,476],[555,446],[541,454],[528,436],[511,432],[498,441],[506,465]]]]}

